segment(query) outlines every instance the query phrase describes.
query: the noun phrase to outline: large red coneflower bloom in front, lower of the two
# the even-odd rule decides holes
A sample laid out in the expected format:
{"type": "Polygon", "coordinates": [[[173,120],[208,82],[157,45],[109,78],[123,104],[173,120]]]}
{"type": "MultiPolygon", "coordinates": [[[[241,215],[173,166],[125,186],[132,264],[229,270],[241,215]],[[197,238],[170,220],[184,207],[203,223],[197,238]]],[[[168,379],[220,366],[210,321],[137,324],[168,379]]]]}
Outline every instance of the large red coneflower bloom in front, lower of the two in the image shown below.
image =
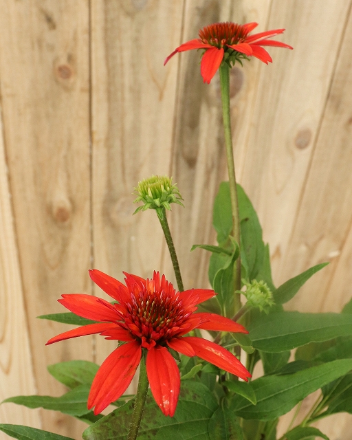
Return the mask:
{"type": "Polygon", "coordinates": [[[173,416],[179,396],[179,369],[168,351],[199,356],[220,369],[244,380],[250,373],[230,351],[203,338],[184,336],[192,329],[248,333],[236,322],[217,314],[199,313],[196,305],[215,294],[213,290],[191,289],[176,292],[173,285],[154,272],[152,279],[126,274],[125,283],[99,270],[89,271],[91,279],[111,298],[106,300],[85,294],[63,295],[58,300],[78,316],[100,321],[66,331],[47,344],[77,336],[100,333],[109,340],[126,342],[115,349],[94,377],[88,408],[98,414],[118,399],[131,383],[146,349],[146,372],[151,392],[164,415],[173,416]]]}

